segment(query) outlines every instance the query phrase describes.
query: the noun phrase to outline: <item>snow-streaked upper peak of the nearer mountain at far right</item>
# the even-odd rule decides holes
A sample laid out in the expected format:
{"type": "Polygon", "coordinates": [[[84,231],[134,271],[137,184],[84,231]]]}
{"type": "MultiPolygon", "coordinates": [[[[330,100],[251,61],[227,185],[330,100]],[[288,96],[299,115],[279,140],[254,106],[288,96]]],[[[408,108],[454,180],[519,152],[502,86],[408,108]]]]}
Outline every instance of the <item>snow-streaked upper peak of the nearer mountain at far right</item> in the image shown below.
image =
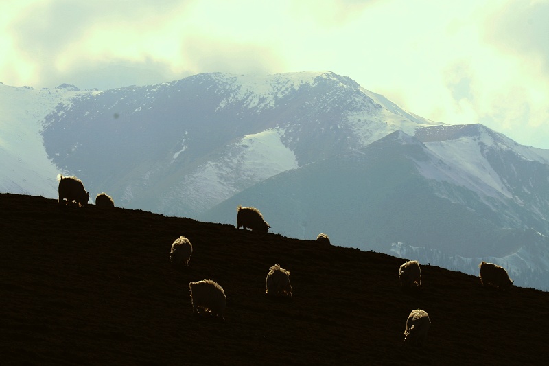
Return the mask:
{"type": "Polygon", "coordinates": [[[457,185],[475,192],[500,217],[498,225],[548,232],[549,150],[519,145],[480,124],[421,128],[416,137],[433,153],[417,165],[436,182],[436,194],[465,203],[445,188],[457,185]]]}

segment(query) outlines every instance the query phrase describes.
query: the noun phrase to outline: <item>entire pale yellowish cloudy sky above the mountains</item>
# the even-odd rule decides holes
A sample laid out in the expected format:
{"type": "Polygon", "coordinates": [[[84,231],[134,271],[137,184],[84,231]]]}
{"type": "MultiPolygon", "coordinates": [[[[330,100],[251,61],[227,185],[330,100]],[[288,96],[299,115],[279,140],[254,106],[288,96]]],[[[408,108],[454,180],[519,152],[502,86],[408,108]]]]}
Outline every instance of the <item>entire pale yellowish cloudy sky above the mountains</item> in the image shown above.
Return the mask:
{"type": "Polygon", "coordinates": [[[334,71],[549,148],[549,0],[3,0],[0,82],[80,89],[334,71]]]}

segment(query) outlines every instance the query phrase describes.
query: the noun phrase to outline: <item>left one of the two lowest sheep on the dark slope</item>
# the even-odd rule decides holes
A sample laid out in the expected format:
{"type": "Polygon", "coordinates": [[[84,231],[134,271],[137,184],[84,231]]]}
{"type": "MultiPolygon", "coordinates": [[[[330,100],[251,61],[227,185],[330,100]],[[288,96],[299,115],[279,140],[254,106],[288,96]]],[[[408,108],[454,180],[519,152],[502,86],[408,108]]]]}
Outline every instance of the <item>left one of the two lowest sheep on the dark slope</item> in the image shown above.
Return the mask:
{"type": "Polygon", "coordinates": [[[204,279],[198,282],[190,282],[189,289],[191,290],[193,312],[200,314],[198,308],[202,308],[216,318],[225,320],[223,312],[225,311],[227,297],[221,286],[211,279],[204,279]]]}

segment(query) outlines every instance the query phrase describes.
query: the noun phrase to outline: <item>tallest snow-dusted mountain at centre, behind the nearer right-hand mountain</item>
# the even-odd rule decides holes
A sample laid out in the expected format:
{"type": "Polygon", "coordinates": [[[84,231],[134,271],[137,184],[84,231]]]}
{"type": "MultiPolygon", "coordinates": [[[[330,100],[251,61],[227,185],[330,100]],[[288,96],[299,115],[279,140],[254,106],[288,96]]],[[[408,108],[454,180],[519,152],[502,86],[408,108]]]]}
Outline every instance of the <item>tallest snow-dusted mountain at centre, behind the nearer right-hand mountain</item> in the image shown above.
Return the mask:
{"type": "Polygon", "coordinates": [[[49,157],[92,191],[195,216],[289,168],[434,124],[331,72],[208,73],[60,106],[43,137],[49,157]]]}

